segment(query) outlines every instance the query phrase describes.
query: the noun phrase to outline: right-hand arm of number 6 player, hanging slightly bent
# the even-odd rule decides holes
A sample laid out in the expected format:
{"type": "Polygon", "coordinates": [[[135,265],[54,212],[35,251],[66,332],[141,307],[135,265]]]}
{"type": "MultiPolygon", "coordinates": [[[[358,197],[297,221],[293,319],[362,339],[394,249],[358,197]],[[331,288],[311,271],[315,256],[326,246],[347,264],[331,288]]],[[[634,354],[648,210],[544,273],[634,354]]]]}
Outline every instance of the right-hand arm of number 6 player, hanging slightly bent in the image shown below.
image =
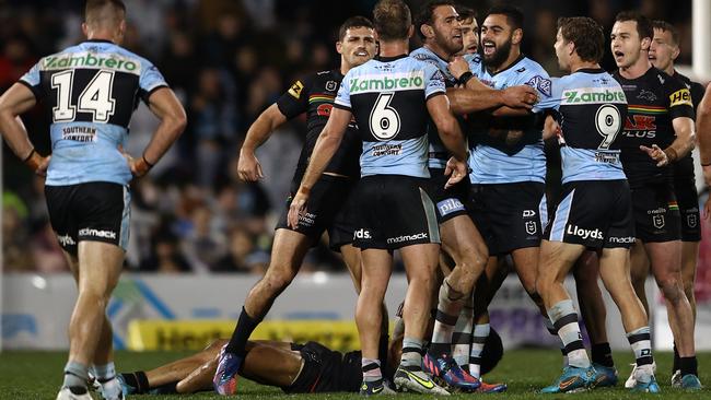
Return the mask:
{"type": "Polygon", "coordinates": [[[459,122],[450,110],[447,96],[434,95],[428,98],[427,109],[436,126],[440,139],[453,157],[447,161],[444,174],[452,175],[445,188],[458,183],[467,175],[467,148],[459,122]]]}

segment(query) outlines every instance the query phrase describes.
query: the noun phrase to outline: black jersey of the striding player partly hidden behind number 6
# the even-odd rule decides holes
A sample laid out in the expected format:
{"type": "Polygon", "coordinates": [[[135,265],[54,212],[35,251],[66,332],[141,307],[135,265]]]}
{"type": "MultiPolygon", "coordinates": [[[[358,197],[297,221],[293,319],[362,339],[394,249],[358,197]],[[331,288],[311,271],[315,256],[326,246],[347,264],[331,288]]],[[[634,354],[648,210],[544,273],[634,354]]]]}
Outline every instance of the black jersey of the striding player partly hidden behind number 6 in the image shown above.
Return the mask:
{"type": "MultiPolygon", "coordinates": [[[[318,134],[328,121],[330,109],[334,107],[334,98],[342,80],[343,75],[338,70],[317,72],[295,81],[289,91],[277,101],[279,110],[289,119],[306,113],[308,131],[294,173],[293,183],[296,187],[306,172],[318,134]]],[[[360,176],[360,146],[358,127],[352,121],[325,172],[358,178],[360,176]]]]}

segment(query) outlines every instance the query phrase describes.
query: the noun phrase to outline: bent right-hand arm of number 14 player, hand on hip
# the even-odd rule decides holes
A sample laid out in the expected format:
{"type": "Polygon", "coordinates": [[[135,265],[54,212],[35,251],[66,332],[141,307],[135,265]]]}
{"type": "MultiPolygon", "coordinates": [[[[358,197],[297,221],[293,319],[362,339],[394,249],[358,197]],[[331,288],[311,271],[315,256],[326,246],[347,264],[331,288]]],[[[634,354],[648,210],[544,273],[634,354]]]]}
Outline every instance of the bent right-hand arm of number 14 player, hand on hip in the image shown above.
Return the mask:
{"type": "Polygon", "coordinates": [[[160,87],[148,98],[151,111],[161,120],[151,141],[140,158],[129,157],[131,174],[141,177],[158,163],[185,130],[187,117],[175,93],[167,86],[160,87]]]}

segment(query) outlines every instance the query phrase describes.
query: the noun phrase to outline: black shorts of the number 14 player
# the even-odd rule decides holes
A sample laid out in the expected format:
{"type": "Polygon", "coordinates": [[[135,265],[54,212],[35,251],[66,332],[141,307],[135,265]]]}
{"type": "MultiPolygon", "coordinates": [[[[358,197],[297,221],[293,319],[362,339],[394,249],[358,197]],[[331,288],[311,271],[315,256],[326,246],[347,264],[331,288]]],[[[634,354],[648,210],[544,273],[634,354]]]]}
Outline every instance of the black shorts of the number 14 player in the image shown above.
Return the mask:
{"type": "Polygon", "coordinates": [[[81,240],[104,242],[126,250],[131,219],[128,186],[93,181],[45,186],[49,222],[62,249],[77,256],[81,240]]]}

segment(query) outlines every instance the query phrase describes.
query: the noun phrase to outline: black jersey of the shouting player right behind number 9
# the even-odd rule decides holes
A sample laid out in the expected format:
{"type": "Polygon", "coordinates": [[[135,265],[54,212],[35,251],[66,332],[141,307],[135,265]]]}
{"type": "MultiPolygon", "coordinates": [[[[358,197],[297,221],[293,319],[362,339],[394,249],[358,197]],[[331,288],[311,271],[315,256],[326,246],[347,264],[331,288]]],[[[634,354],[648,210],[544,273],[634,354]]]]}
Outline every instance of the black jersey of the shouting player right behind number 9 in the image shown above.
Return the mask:
{"type": "Polygon", "coordinates": [[[626,79],[616,71],[615,79],[627,96],[628,113],[621,138],[621,160],[630,186],[671,180],[672,167],[657,167],[640,145],[656,144],[666,149],[675,139],[672,121],[693,118],[689,90],[678,80],[652,67],[642,77],[626,79]]]}

